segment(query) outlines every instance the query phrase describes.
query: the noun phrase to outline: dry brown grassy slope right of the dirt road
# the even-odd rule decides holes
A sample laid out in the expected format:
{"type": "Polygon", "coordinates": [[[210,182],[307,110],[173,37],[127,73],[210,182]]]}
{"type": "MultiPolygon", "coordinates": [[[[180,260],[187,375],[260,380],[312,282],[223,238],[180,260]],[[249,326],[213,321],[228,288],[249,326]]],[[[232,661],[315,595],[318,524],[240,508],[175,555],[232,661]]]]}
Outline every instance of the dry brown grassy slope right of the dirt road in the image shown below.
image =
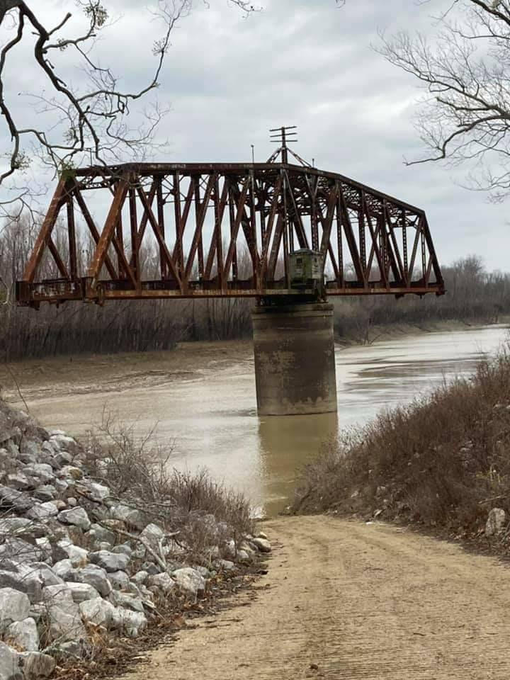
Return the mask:
{"type": "Polygon", "coordinates": [[[467,534],[510,511],[510,353],[327,443],[294,510],[404,517],[467,534]]]}

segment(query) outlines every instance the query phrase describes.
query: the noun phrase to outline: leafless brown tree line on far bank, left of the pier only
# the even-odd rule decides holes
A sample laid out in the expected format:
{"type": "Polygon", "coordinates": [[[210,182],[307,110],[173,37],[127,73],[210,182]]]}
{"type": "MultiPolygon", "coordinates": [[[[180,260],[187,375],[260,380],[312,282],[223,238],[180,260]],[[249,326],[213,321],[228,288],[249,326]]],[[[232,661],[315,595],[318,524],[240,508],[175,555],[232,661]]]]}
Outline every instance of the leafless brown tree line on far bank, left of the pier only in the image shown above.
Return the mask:
{"type": "MultiPolygon", "coordinates": [[[[58,247],[65,251],[62,233],[58,247]]],[[[142,300],[104,307],[68,303],[45,305],[39,312],[16,307],[14,284],[23,269],[35,239],[28,222],[11,222],[0,230],[0,353],[6,361],[57,354],[111,353],[172,348],[186,340],[237,339],[251,332],[246,300],[142,300]]],[[[90,244],[79,247],[81,268],[90,244]]],[[[157,271],[159,256],[145,250],[142,267],[157,271]]],[[[246,262],[239,254],[239,276],[246,262]]],[[[43,263],[42,277],[55,276],[52,264],[43,263]]]]}

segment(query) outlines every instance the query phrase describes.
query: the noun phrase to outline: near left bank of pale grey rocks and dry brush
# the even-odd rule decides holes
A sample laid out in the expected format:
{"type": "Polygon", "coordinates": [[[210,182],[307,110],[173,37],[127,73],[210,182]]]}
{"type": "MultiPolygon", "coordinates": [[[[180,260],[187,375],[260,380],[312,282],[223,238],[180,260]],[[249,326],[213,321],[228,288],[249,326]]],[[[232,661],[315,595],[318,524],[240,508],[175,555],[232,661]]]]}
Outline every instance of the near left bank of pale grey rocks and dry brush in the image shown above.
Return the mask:
{"type": "Polygon", "coordinates": [[[243,497],[112,421],[102,435],[83,446],[0,401],[4,680],[111,676],[271,552],[243,497]]]}

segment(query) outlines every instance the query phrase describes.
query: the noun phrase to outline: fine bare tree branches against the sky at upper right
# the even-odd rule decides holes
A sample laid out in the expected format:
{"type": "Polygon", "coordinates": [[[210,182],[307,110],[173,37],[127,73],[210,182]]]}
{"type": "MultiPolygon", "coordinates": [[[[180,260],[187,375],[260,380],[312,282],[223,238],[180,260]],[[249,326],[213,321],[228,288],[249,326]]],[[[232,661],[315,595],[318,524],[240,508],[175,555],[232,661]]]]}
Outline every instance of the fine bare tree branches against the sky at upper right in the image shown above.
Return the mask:
{"type": "MultiPolygon", "coordinates": [[[[421,0],[429,4],[430,0],[421,0]]],[[[419,79],[416,125],[429,161],[468,162],[472,188],[510,193],[510,1],[452,0],[437,33],[382,35],[382,55],[419,79]]]]}

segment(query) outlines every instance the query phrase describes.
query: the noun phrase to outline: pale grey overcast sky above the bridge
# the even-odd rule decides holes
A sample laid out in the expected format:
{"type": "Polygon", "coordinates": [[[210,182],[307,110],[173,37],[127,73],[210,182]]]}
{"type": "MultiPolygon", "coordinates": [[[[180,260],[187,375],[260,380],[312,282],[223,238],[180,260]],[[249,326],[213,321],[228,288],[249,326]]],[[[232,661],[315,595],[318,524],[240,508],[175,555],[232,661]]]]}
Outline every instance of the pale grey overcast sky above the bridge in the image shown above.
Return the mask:
{"type": "MultiPolygon", "coordinates": [[[[157,23],[143,1],[105,4],[119,21],[99,50],[135,86],[154,64],[157,23]]],[[[508,204],[462,188],[458,170],[404,166],[404,157],[422,153],[412,122],[420,92],[370,47],[378,29],[433,30],[432,11],[450,0],[348,0],[344,8],[334,0],[261,0],[263,11],[247,19],[227,0],[209,4],[196,0],[174,32],[158,91],[171,104],[160,132],[169,147],[155,159],[242,162],[254,144],[264,161],[273,152],[268,128],[298,125],[302,157],[424,208],[441,262],[476,253],[487,268],[510,270],[508,204]]],[[[55,18],[74,9],[72,0],[36,5],[55,18]]],[[[38,82],[28,52],[20,64],[11,92],[38,82]]]]}

